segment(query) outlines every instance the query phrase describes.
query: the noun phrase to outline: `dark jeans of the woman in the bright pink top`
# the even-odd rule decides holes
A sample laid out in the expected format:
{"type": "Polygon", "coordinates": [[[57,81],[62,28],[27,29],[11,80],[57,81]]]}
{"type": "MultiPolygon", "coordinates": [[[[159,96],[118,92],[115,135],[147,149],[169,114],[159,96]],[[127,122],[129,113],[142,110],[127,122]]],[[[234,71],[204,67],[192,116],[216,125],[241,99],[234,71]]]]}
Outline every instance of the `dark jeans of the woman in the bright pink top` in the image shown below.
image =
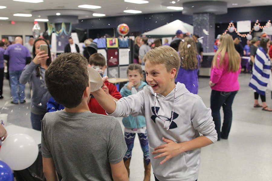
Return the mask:
{"type": "Polygon", "coordinates": [[[232,102],[238,91],[233,92],[222,92],[217,90],[212,90],[211,93],[211,110],[212,117],[215,124],[215,130],[217,132],[217,139],[220,138],[228,139],[228,134],[232,125],[232,102]],[[220,108],[223,107],[224,121],[222,126],[222,131],[220,132],[221,127],[221,117],[220,117],[220,108]]]}

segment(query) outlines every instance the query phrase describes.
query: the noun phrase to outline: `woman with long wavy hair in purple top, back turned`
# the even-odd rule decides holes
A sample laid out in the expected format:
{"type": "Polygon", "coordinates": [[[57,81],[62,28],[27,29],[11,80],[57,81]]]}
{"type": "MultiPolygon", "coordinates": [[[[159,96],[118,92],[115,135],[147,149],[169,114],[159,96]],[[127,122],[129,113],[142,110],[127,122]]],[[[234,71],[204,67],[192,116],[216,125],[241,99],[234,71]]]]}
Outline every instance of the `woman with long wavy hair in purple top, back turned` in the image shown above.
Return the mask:
{"type": "Polygon", "coordinates": [[[193,94],[197,94],[197,71],[199,69],[201,56],[197,53],[193,38],[185,37],[184,42],[180,41],[179,55],[180,69],[175,81],[185,84],[186,89],[193,94]]]}

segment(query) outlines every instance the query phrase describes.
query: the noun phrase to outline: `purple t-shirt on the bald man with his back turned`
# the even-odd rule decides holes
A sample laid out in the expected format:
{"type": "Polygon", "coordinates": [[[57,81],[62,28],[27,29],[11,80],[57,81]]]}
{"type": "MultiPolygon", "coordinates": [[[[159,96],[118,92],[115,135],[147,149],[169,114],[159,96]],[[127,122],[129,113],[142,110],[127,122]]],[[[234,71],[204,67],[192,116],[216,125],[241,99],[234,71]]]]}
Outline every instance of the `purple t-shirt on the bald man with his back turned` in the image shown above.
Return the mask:
{"type": "Polygon", "coordinates": [[[9,56],[9,71],[23,70],[26,58],[30,57],[28,49],[19,43],[8,46],[4,55],[9,56]]]}

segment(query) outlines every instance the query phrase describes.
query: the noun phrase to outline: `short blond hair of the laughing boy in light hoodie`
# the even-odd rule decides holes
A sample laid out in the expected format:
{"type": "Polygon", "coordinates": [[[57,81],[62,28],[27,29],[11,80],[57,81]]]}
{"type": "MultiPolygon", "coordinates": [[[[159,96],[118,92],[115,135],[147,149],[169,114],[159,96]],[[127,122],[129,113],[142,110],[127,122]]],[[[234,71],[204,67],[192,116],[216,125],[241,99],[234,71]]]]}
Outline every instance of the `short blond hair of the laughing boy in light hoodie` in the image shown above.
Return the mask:
{"type": "Polygon", "coordinates": [[[176,50],[170,46],[160,46],[148,51],[143,58],[143,62],[149,61],[152,64],[164,64],[166,70],[170,72],[176,68],[176,75],[180,68],[180,57],[176,50]]]}

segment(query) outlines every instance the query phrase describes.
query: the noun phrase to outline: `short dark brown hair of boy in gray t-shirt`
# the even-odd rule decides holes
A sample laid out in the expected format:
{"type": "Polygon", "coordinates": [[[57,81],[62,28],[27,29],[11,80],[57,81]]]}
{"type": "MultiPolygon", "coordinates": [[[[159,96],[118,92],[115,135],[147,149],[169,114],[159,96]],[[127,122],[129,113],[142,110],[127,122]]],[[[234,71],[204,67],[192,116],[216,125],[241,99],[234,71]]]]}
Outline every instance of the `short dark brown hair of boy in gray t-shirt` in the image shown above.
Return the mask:
{"type": "Polygon", "coordinates": [[[86,58],[79,53],[60,54],[45,71],[45,83],[58,103],[67,108],[78,106],[89,87],[86,58]]]}

